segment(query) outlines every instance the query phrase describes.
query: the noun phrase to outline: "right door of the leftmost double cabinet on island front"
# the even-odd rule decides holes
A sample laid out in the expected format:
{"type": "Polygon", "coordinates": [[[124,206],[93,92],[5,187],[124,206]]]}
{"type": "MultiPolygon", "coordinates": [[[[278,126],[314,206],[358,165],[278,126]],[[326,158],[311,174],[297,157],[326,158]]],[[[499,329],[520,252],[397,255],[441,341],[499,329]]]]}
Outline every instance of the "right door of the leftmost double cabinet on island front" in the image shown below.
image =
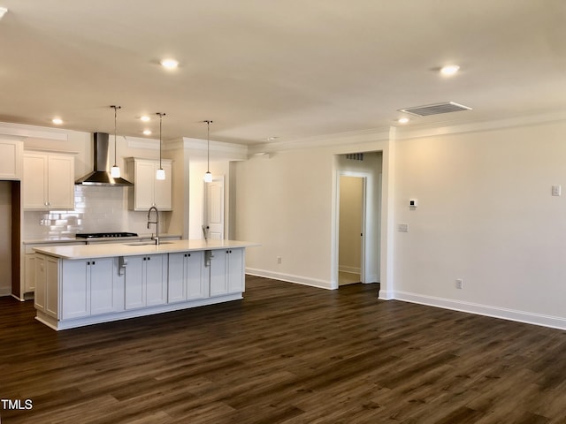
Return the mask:
{"type": "Polygon", "coordinates": [[[90,265],[90,314],[108,314],[114,307],[114,260],[96,259],[90,265]]]}

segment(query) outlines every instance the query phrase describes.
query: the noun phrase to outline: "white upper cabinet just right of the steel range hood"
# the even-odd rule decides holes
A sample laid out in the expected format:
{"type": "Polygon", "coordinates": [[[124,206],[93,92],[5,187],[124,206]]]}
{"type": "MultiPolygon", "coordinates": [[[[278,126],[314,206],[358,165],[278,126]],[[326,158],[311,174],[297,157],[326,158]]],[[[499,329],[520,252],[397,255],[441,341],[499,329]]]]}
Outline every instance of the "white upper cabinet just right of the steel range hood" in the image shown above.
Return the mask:
{"type": "Polygon", "coordinates": [[[148,210],[172,210],[172,160],[162,159],[165,179],[156,179],[159,161],[129,157],[126,159],[128,179],[134,183],[128,187],[128,208],[148,210]]]}

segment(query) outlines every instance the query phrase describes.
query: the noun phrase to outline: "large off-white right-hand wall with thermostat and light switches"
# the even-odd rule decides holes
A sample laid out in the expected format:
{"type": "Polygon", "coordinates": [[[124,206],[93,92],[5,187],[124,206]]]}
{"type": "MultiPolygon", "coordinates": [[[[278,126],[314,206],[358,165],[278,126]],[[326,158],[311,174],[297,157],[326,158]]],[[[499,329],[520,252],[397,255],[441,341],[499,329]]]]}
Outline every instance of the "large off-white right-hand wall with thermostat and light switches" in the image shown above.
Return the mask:
{"type": "Polygon", "coordinates": [[[395,223],[409,232],[394,235],[394,297],[566,327],[566,192],[551,195],[566,189],[564,134],[560,122],[396,141],[395,223]]]}

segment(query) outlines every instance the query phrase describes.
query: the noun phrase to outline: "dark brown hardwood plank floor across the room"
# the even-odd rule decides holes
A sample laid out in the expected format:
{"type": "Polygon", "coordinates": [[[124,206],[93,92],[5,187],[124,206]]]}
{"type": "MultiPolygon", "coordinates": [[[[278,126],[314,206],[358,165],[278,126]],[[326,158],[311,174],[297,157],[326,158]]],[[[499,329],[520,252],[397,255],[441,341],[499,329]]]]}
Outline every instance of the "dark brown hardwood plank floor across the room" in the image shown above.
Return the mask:
{"type": "Polygon", "coordinates": [[[0,298],[0,398],[33,403],[1,422],[566,422],[564,331],[378,290],[248,276],[240,301],[60,332],[0,298]]]}

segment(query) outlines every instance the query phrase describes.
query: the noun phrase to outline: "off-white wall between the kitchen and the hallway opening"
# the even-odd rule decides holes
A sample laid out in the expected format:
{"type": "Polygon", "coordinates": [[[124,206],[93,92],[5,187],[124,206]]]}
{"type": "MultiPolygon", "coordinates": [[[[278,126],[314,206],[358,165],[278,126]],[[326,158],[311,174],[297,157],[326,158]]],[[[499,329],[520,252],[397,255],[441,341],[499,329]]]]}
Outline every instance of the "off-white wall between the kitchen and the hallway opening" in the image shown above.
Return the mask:
{"type": "Polygon", "coordinates": [[[248,249],[248,272],[338,287],[336,155],[387,146],[368,137],[359,144],[284,150],[236,163],[236,239],[262,245],[248,249]]]}

